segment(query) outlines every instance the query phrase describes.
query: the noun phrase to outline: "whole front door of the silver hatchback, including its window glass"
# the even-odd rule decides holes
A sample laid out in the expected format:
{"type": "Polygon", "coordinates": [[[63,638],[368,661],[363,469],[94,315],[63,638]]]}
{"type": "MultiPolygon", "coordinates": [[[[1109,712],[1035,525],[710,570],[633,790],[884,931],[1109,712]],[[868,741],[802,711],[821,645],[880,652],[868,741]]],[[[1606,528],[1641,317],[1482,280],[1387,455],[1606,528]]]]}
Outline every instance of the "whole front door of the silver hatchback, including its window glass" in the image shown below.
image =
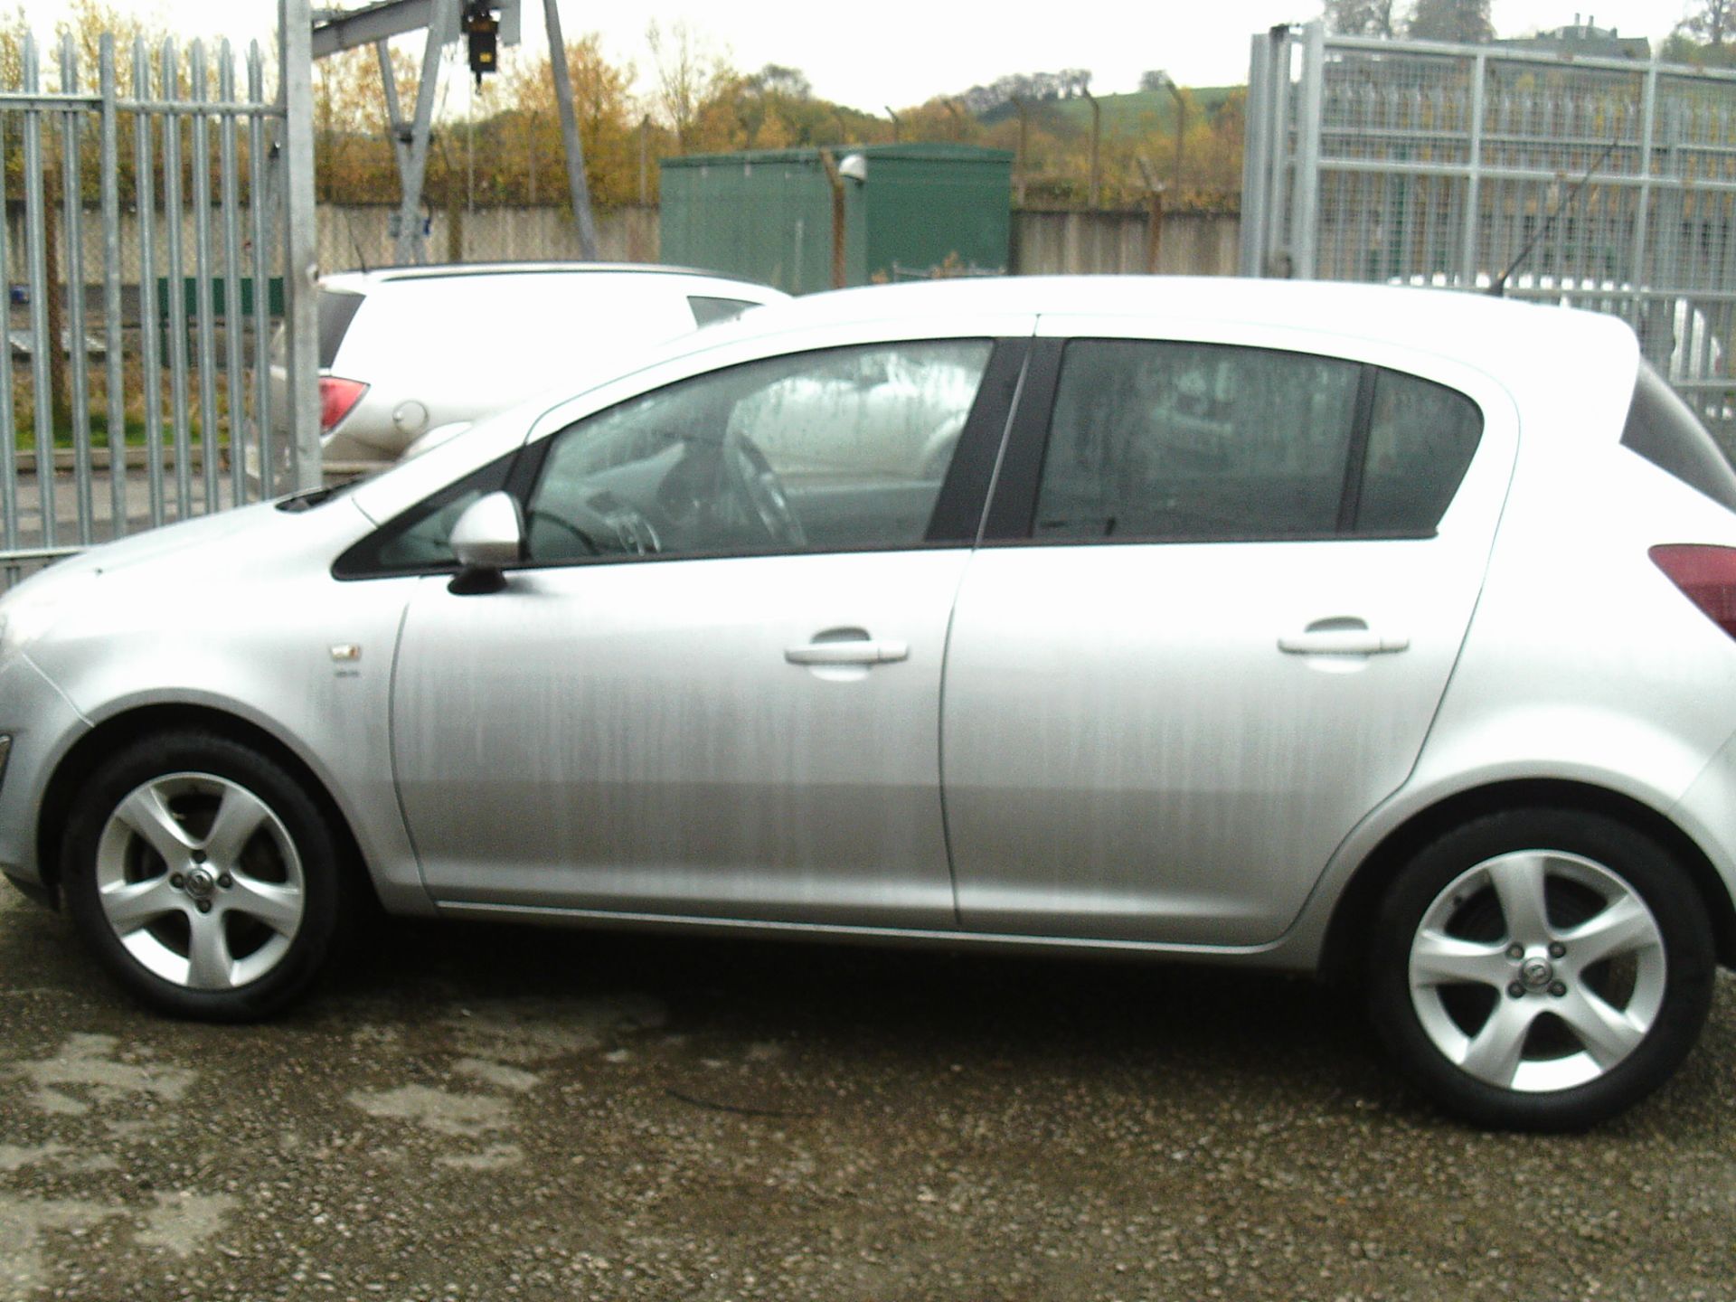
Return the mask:
{"type": "Polygon", "coordinates": [[[965,425],[998,437],[972,406],[991,354],[753,361],[528,450],[528,562],[491,594],[424,580],[398,651],[436,899],[951,927],[939,693],[969,549],[936,519],[965,425]]]}

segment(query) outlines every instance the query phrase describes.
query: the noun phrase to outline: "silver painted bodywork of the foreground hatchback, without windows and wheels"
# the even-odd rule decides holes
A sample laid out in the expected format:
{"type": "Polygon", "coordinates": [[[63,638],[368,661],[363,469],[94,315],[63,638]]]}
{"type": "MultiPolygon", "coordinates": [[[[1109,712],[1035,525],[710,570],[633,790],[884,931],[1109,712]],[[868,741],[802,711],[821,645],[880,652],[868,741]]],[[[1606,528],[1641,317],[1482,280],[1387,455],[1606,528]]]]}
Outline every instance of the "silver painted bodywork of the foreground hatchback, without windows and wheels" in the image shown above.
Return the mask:
{"type": "Polygon", "coordinates": [[[40,877],[35,816],[54,764],[80,736],[137,707],[182,705],[231,713],[297,755],[396,911],[434,908],[420,851],[429,882],[457,911],[1255,955],[1309,967],[1345,880],[1408,818],[1488,783],[1538,778],[1616,792],[1675,819],[1736,887],[1736,715],[1727,707],[1736,656],[1646,556],[1656,542],[1736,545],[1736,516],[1618,446],[1635,366],[1632,333],[1609,318],[1370,286],[1007,279],[764,307],[648,352],[632,375],[599,377],[580,396],[483,422],[323,507],[172,526],[95,549],[7,594],[0,616],[17,627],[33,621],[23,618],[31,611],[52,608],[52,618],[33,637],[0,639],[0,733],[14,736],[0,785],[0,863],[40,877]],[[1055,316],[1036,323],[1036,304],[1055,316]],[[1305,330],[1295,325],[1300,314],[1305,330]],[[1240,545],[580,564],[516,571],[505,592],[464,599],[439,576],[332,576],[340,554],[429,493],[654,385],[797,347],[1061,333],[1085,318],[1128,337],[1174,332],[1274,347],[1290,339],[1437,377],[1477,399],[1489,432],[1439,538],[1392,543],[1397,559],[1377,557],[1385,543],[1373,542],[1260,545],[1269,554],[1255,568],[1269,608],[1219,601],[1253,582],[1245,562],[1222,556],[1240,545]],[[1347,557],[1342,573],[1321,568],[1325,549],[1347,557]],[[1092,571],[1083,554],[1097,562],[1092,571]],[[1189,556],[1201,568],[1186,566],[1189,556]],[[1141,557],[1160,566],[1156,578],[1132,573],[1141,557]],[[838,561],[847,587],[825,578],[838,561]],[[741,578],[707,578],[726,568],[741,578]],[[1401,578],[1417,582],[1406,589],[1401,578]],[[1141,587],[1175,608],[1153,597],[1135,608],[1132,630],[1109,628],[1092,597],[1125,602],[1141,587]],[[1040,595],[1083,623],[1033,637],[1021,606],[1040,595]],[[703,637],[674,623],[681,602],[705,615],[703,637]],[[753,618],[731,621],[731,602],[753,618]],[[529,608],[549,618],[526,637],[529,608]],[[1295,627],[1338,616],[1401,628],[1410,648],[1352,668],[1276,649],[1295,627]],[[950,620],[953,658],[936,681],[950,620]],[[833,627],[898,637],[911,654],[851,681],[828,681],[823,670],[835,667],[785,660],[790,646],[833,627]],[[1267,696],[1250,698],[1226,689],[1222,674],[1165,660],[1160,639],[1163,674],[1132,698],[1120,691],[1125,677],[1083,681],[1104,654],[1132,674],[1149,661],[1139,639],[1170,627],[1208,627],[1207,654],[1238,672],[1264,656],[1279,677],[1260,686],[1255,675],[1267,696]],[[340,646],[359,646],[359,660],[335,656],[340,646]],[[585,679],[587,665],[606,674],[585,679]],[[1422,686],[1401,682],[1411,665],[1422,686]],[[564,677],[531,682],[536,667],[564,677]],[[505,694],[467,684],[465,668],[505,694]],[[1017,677],[983,682],[986,672],[1017,677]],[[1267,710],[1293,708],[1295,693],[1300,713],[1259,713],[1262,700],[1267,710]],[[1101,713],[1087,719],[1092,705],[1101,713]],[[562,710],[585,713],[599,753],[554,734],[562,710]],[[455,729],[443,731],[443,719],[455,729]],[[861,720],[870,720],[870,746],[852,731],[861,720]],[[722,734],[687,734],[708,724],[722,734]],[[656,736],[627,736],[630,726],[656,736]],[[1236,745],[1205,757],[1213,729],[1236,745]],[[993,738],[1009,753],[993,753],[993,738]],[[1101,746],[1078,752],[1080,738],[1101,746]],[[1314,773],[1356,779],[1361,807],[1337,793],[1272,795],[1288,759],[1278,748],[1297,740],[1314,748],[1314,773]],[[1035,852],[996,826],[1024,816],[1033,741],[1050,746],[1050,762],[1066,755],[1071,764],[1049,774],[1062,795],[1043,797],[1066,840],[1043,832],[1035,852]],[[441,767],[455,757],[488,767],[441,767]],[[951,783],[944,806],[943,771],[951,783]],[[578,774],[587,828],[601,816],[615,840],[599,849],[559,818],[529,826],[514,804],[488,812],[502,856],[465,877],[481,840],[441,800],[465,779],[481,790],[524,774],[536,779],[528,786],[549,790],[578,774]],[[779,776],[793,781],[781,797],[767,786],[779,776]],[[1092,783],[1101,790],[1085,792],[1092,783]],[[604,809],[611,792],[621,799],[604,809]],[[1153,797],[1144,818],[1141,792],[1153,797]],[[1158,804],[1177,793],[1179,807],[1158,804]],[[856,800],[870,802],[863,818],[849,816],[856,800]],[[939,823],[943,807],[950,823],[939,823]],[[733,826],[675,847],[658,818],[674,825],[686,812],[733,826]],[[937,828],[955,837],[957,899],[965,924],[983,929],[970,936],[948,917],[937,828]],[[1170,856],[1165,875],[1135,880],[1153,828],[1170,856]],[[1246,858],[1238,861],[1229,844],[1246,858]],[[1085,865],[1085,889],[1057,863],[1085,865]],[[1241,880],[1208,880],[1212,865],[1241,880]],[[1055,899],[1042,898],[1049,889],[1055,899]],[[1061,917],[1061,891],[1083,922],[1061,917]],[[1219,913],[1207,920],[1201,906],[1219,913]]]}

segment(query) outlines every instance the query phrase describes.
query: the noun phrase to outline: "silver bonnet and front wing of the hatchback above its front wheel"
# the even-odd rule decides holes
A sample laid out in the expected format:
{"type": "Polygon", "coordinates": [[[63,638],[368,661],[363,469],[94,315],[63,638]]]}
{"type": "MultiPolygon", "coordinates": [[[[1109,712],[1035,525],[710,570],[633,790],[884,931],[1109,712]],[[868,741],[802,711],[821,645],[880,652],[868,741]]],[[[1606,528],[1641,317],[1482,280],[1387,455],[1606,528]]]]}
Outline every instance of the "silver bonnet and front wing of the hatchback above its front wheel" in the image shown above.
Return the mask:
{"type": "MultiPolygon", "coordinates": [[[[392,648],[415,580],[330,576],[332,556],[372,528],[347,502],[309,512],[247,507],[94,549],[21,585],[14,599],[38,582],[89,580],[87,599],[68,604],[54,635],[30,648],[78,712],[61,722],[56,755],[89,727],[148,707],[240,719],[293,752],[330,793],[387,906],[427,911],[387,748],[392,648]]],[[[30,799],[40,800],[52,769],[24,773],[38,778],[30,799]]],[[[0,851],[38,875],[33,847],[0,851]]]]}

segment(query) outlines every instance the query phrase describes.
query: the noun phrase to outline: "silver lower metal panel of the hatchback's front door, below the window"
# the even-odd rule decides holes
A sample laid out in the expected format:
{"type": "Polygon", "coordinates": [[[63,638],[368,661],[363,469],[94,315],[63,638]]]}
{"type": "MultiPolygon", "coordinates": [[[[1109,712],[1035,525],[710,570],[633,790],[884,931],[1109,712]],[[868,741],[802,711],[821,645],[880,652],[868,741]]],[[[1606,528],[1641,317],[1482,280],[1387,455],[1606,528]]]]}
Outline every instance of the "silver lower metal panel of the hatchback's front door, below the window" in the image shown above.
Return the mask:
{"type": "Polygon", "coordinates": [[[967,559],[589,564],[486,599],[427,580],[392,736],[429,891],[951,925],[934,720],[967,559]],[[792,663],[866,642],[903,658],[792,663]]]}

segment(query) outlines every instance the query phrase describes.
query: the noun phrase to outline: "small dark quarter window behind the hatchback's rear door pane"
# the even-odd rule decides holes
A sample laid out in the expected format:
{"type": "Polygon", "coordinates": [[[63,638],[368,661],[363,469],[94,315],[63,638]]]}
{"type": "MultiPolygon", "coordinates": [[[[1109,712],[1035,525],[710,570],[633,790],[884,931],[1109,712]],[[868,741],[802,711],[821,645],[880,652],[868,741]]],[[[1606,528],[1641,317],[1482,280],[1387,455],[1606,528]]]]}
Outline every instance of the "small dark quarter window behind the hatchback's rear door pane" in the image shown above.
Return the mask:
{"type": "Polygon", "coordinates": [[[1483,413],[1460,392],[1378,372],[1358,533],[1429,533],[1458,491],[1483,437],[1483,413]]]}

